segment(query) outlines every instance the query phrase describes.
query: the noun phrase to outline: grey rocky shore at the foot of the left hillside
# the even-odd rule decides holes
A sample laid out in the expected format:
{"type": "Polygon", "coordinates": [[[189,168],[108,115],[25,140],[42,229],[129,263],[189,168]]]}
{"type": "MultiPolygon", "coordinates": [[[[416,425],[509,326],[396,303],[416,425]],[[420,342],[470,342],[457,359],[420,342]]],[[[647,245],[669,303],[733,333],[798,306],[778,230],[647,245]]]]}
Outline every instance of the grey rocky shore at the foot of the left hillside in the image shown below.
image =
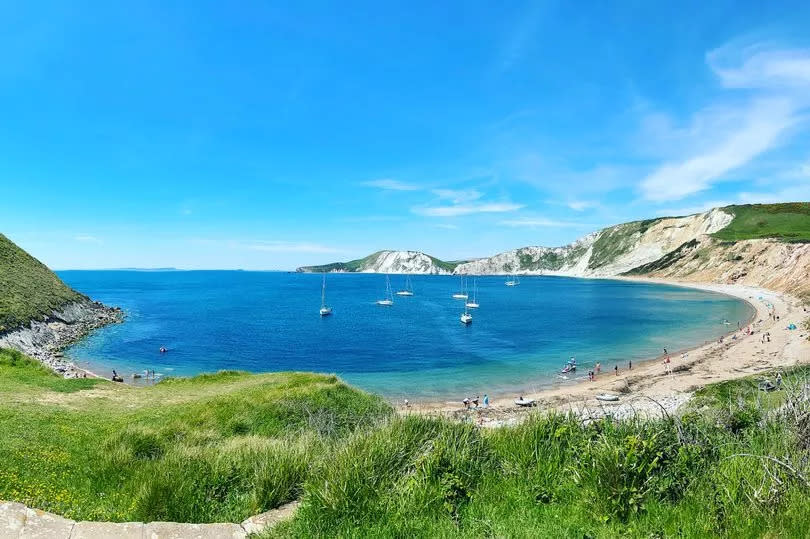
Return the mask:
{"type": "Polygon", "coordinates": [[[94,329],[124,320],[119,307],[97,301],[77,301],[66,305],[29,327],[0,333],[0,347],[19,350],[65,378],[81,378],[87,372],[65,359],[62,350],[94,329]]]}

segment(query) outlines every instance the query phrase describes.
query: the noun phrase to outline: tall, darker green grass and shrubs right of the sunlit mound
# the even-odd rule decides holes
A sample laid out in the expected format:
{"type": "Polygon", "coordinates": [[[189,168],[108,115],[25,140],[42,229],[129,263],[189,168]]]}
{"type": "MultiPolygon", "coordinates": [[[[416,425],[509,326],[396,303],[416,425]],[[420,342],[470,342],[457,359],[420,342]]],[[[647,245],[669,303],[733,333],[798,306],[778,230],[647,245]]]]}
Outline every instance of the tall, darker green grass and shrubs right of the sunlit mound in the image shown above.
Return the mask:
{"type": "MultiPolygon", "coordinates": [[[[807,371],[786,376],[807,384],[807,371]]],[[[810,406],[754,380],[709,386],[679,419],[478,429],[425,417],[352,437],[266,537],[808,537],[810,406]],[[797,401],[791,400],[796,403],[797,401]]]]}

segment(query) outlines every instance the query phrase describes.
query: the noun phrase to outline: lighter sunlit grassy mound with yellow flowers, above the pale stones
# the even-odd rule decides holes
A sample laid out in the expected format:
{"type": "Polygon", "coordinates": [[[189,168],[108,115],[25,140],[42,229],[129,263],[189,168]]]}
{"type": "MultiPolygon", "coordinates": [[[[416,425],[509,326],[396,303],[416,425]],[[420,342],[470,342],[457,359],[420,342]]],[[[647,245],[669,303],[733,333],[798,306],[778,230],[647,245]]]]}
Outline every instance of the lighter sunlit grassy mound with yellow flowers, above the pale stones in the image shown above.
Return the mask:
{"type": "Polygon", "coordinates": [[[332,376],[138,389],[0,350],[0,500],[75,519],[239,522],[297,497],[333,444],[389,412],[332,376]]]}

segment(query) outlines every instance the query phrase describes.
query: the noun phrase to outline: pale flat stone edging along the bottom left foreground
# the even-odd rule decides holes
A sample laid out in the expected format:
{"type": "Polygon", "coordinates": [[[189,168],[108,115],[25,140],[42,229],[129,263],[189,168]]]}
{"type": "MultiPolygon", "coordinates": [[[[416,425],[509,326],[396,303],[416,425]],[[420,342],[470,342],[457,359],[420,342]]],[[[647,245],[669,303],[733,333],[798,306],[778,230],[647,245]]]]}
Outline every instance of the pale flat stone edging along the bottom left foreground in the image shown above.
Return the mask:
{"type": "Polygon", "coordinates": [[[244,539],[291,518],[297,508],[298,502],[290,502],[241,524],[76,522],[21,503],[0,502],[0,539],[244,539]]]}

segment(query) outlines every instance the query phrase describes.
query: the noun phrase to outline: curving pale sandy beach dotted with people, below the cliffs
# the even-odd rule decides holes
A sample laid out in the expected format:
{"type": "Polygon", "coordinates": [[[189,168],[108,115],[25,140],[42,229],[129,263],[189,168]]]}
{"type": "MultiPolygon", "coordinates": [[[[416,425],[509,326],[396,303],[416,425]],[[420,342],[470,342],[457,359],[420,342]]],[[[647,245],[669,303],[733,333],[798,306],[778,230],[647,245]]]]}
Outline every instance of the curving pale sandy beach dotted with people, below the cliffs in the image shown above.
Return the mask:
{"type": "MultiPolygon", "coordinates": [[[[779,367],[810,363],[810,341],[804,320],[810,316],[801,302],[788,294],[753,286],[716,283],[676,282],[663,279],[618,278],[641,282],[657,282],[727,294],[750,303],[756,314],[750,324],[753,331],[746,334],[747,326],[723,339],[686,351],[670,351],[671,374],[665,372],[663,357],[634,364],[632,370],[623,365],[618,376],[605,368],[595,381],[584,378],[581,382],[554,387],[523,397],[534,399],[535,406],[523,408],[513,402],[515,395],[490,396],[490,406],[472,411],[464,410],[458,402],[420,401],[407,407],[398,403],[401,413],[441,414],[453,417],[474,416],[483,426],[497,426],[520,421],[532,410],[573,411],[584,416],[598,417],[611,414],[626,417],[633,414],[661,415],[674,411],[691,394],[710,383],[731,380],[779,367]],[[773,309],[773,311],[771,310],[773,309]],[[775,313],[779,319],[772,316],[775,313]],[[789,324],[798,329],[788,330],[789,324]],[[762,342],[764,333],[770,333],[770,342],[762,342]],[[619,396],[616,402],[596,399],[599,394],[619,396]]],[[[736,325],[736,323],[735,323],[736,325]]],[[[587,373],[588,367],[580,366],[587,373]]]]}

